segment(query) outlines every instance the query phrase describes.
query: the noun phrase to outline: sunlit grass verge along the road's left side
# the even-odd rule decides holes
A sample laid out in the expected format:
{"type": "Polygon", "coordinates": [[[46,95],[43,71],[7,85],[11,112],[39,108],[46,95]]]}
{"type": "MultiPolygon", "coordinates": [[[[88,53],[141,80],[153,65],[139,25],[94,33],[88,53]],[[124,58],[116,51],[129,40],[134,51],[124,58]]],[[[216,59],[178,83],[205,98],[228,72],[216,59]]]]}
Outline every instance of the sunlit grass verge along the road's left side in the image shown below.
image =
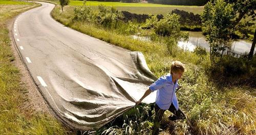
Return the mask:
{"type": "Polygon", "coordinates": [[[0,3],[0,134],[67,134],[52,116],[20,109],[29,99],[24,94],[27,89],[21,82],[21,74],[12,64],[15,58],[7,23],[19,13],[40,5],[2,0],[0,3]]]}

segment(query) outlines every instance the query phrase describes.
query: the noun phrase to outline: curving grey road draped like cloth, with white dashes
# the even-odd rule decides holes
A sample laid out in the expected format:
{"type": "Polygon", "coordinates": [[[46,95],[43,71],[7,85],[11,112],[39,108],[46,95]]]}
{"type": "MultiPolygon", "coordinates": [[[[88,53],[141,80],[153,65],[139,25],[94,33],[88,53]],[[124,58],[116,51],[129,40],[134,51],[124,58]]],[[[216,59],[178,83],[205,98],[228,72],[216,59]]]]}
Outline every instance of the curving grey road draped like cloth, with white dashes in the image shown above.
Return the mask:
{"type": "Polygon", "coordinates": [[[56,115],[74,128],[92,130],[133,107],[156,79],[142,53],[69,29],[50,16],[53,4],[40,4],[16,18],[13,39],[56,115]]]}

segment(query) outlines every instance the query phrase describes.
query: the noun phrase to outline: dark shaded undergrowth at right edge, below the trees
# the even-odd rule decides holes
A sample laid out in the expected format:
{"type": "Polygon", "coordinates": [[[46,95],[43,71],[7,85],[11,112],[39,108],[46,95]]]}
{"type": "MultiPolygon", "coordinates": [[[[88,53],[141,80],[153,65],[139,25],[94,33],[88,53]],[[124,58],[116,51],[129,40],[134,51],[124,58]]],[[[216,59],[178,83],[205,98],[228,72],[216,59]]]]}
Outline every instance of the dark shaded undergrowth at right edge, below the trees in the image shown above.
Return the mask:
{"type": "Polygon", "coordinates": [[[207,70],[208,78],[217,87],[256,88],[256,57],[250,61],[247,58],[224,57],[222,61],[207,70]]]}

